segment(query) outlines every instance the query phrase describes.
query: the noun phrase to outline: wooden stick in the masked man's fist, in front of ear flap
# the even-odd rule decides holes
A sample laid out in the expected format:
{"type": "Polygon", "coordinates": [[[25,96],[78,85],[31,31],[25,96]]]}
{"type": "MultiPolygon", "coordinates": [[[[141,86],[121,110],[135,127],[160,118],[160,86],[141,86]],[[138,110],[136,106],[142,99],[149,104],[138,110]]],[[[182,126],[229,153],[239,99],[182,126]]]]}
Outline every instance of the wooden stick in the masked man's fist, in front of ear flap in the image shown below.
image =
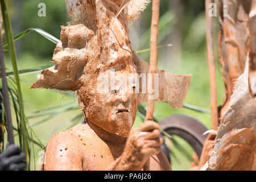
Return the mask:
{"type": "MultiPolygon", "coordinates": [[[[160,0],[153,0],[153,2],[152,2],[152,19],[151,19],[151,35],[150,35],[150,73],[152,75],[152,88],[154,88],[154,73],[156,71],[156,66],[157,66],[157,61],[158,61],[159,6],[160,6],[160,0]]],[[[150,97],[150,94],[148,94],[146,121],[147,120],[153,121],[155,104],[154,104],[154,100],[150,100],[149,97],[150,97]]],[[[143,169],[144,169],[144,171],[149,171],[150,159],[148,159],[148,161],[145,164],[143,169]]]]}

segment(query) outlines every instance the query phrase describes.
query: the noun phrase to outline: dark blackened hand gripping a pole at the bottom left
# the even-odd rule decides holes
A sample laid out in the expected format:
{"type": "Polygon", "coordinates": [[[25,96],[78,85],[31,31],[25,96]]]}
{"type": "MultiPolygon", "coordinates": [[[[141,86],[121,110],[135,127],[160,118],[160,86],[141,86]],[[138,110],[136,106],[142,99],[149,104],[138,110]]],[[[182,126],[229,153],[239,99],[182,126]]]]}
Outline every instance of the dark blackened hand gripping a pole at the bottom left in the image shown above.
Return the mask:
{"type": "Polygon", "coordinates": [[[0,154],[0,171],[21,171],[27,167],[26,155],[16,144],[11,144],[0,154]]]}

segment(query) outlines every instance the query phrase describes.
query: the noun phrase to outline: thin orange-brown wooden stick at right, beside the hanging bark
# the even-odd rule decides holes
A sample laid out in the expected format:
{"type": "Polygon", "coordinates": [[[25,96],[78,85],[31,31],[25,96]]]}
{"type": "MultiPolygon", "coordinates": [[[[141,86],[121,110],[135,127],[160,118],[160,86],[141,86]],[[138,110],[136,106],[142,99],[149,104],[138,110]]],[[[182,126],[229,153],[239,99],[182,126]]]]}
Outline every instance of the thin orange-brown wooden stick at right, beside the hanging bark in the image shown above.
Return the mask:
{"type": "Polygon", "coordinates": [[[207,25],[207,52],[210,74],[210,110],[212,115],[212,130],[218,129],[218,111],[217,111],[217,89],[216,89],[216,71],[213,51],[213,33],[212,16],[209,15],[209,4],[211,0],[205,0],[205,17],[207,25]]]}

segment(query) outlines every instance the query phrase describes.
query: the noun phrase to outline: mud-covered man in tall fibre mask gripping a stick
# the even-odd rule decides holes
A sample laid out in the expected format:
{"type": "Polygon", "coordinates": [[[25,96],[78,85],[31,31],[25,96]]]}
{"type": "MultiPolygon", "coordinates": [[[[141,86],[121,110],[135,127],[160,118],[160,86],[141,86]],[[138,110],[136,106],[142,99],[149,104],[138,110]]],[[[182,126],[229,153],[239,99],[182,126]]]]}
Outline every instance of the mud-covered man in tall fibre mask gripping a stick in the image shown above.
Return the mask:
{"type": "MultiPolygon", "coordinates": [[[[42,71],[31,88],[76,90],[85,122],[52,136],[41,168],[141,170],[150,159],[150,170],[170,170],[160,150],[159,124],[148,121],[131,130],[137,104],[148,97],[141,92],[143,79],[136,77],[148,73],[148,64],[131,49],[129,22],[148,1],[130,1],[118,16],[121,0],[66,3],[73,20],[61,27],[53,55],[57,64],[42,71]]],[[[154,99],[181,107],[191,76],[157,72],[159,97],[154,99]]]]}

